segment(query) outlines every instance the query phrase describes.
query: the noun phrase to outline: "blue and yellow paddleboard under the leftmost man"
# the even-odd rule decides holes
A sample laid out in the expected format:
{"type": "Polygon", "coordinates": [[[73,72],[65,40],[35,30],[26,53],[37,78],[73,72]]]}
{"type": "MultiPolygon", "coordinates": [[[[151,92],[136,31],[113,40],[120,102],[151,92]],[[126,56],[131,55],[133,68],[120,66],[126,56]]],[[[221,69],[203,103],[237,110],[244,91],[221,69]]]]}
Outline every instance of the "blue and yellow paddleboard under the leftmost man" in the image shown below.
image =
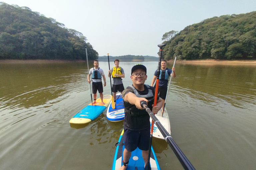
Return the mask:
{"type": "Polygon", "coordinates": [[[96,103],[92,105],[90,103],[88,106],[83,108],[80,112],[78,112],[72,119],[70,119],[69,123],[71,124],[86,124],[96,119],[100,114],[108,107],[111,101],[111,95],[104,95],[103,102],[105,105],[102,105],[101,99],[97,99],[96,103]]]}

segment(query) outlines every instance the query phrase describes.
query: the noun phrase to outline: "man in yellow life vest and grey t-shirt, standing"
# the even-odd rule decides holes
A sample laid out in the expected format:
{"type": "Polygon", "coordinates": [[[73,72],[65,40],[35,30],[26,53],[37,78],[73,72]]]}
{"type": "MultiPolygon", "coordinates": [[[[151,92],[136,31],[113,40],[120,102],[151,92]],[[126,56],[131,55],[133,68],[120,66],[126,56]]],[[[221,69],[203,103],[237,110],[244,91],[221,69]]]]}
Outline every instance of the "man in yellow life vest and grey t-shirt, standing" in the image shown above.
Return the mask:
{"type": "Polygon", "coordinates": [[[124,90],[124,85],[122,78],[124,78],[124,69],[119,67],[119,59],[114,60],[115,66],[108,70],[108,77],[112,75],[113,84],[112,84],[112,92],[113,92],[113,100],[116,105],[116,92],[120,92],[122,94],[124,90]]]}

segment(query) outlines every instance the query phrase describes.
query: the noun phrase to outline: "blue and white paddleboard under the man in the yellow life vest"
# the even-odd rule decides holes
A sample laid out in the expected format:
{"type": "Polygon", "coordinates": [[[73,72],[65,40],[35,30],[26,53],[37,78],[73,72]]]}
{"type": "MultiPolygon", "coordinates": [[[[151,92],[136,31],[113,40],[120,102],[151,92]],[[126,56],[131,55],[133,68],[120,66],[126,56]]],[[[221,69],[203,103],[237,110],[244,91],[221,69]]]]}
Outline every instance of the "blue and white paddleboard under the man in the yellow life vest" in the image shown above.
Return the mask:
{"type": "Polygon", "coordinates": [[[122,95],[116,94],[116,105],[115,109],[112,108],[112,105],[110,104],[108,106],[108,111],[107,111],[107,120],[111,122],[118,122],[124,120],[124,102],[122,99],[122,95]]]}

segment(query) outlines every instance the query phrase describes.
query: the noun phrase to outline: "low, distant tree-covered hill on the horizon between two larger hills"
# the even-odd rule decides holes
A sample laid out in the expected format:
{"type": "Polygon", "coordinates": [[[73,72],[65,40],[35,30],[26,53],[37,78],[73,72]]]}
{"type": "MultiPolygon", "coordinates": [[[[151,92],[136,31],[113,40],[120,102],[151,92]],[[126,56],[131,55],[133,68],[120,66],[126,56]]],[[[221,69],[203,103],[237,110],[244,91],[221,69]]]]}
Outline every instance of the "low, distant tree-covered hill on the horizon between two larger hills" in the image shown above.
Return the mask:
{"type": "MultiPolygon", "coordinates": [[[[99,60],[107,60],[108,56],[104,55],[104,56],[99,56],[99,60]]],[[[122,56],[109,56],[110,60],[115,60],[115,59],[119,59],[119,60],[158,60],[158,57],[154,57],[154,56],[142,56],[142,55],[122,55],[122,56]]]]}

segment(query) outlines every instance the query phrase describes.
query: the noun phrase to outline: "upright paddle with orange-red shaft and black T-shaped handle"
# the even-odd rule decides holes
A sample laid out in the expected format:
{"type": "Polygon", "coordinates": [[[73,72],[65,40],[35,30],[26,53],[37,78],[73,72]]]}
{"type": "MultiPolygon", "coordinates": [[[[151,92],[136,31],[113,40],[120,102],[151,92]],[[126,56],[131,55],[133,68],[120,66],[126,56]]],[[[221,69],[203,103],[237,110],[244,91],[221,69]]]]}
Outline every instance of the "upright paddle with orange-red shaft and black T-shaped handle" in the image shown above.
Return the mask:
{"type": "MultiPolygon", "coordinates": [[[[159,75],[160,75],[160,68],[161,68],[161,57],[162,57],[162,50],[163,50],[163,47],[165,45],[166,44],[158,44],[157,45],[160,48],[159,49],[160,56],[159,56],[159,60],[158,60],[158,70],[157,70],[157,76],[156,76],[156,89],[155,89],[155,98],[154,98],[154,105],[153,106],[156,106],[156,101],[157,101],[158,83],[159,83],[159,75]]],[[[152,119],[151,130],[150,130],[149,149],[148,149],[148,162],[147,162],[144,170],[150,170],[150,153],[151,153],[153,129],[154,129],[154,122],[153,122],[153,119],[152,119]]]]}

